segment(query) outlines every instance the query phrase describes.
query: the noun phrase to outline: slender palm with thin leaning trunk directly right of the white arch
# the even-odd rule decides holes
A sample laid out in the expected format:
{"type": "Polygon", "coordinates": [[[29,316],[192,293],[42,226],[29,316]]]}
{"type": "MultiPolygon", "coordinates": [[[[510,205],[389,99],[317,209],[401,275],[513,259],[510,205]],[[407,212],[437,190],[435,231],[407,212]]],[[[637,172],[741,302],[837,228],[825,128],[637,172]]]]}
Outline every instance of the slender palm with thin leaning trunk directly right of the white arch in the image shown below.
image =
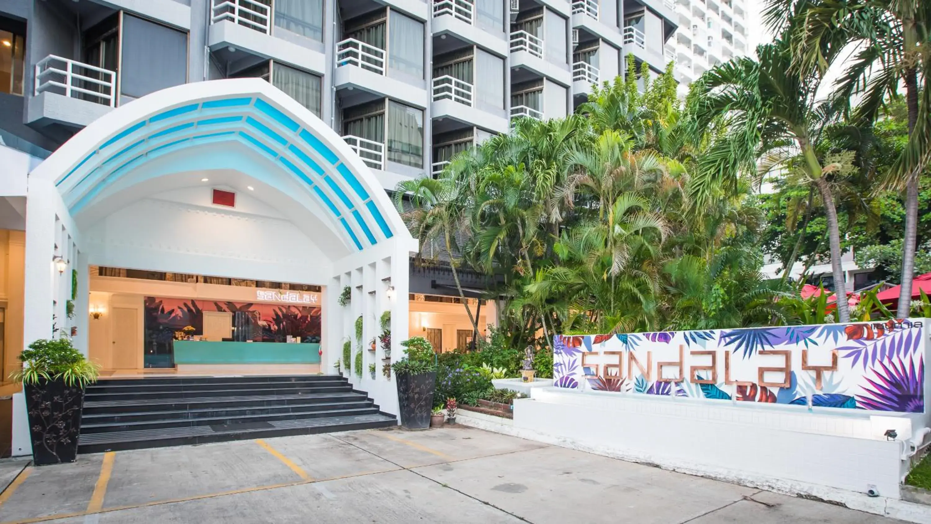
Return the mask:
{"type": "Polygon", "coordinates": [[[456,254],[462,252],[462,249],[456,242],[455,234],[467,227],[467,189],[450,173],[444,172],[438,179],[418,178],[399,182],[395,188],[394,201],[404,222],[420,242],[419,254],[423,253],[426,244],[438,238],[442,240],[441,245],[449,257],[452,279],[455,281],[456,290],[459,291],[459,299],[466,307],[466,315],[472,324],[473,333],[478,333],[479,320],[472,315],[456,270],[456,254]],[[411,199],[411,210],[404,210],[405,195],[411,199]]]}

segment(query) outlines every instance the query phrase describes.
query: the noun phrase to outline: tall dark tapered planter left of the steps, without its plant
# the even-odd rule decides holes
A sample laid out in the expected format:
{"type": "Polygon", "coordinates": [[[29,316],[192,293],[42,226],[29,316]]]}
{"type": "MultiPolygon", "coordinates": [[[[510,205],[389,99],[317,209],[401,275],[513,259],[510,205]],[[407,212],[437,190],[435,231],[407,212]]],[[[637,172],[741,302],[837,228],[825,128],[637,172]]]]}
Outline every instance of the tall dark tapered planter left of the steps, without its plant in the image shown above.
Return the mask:
{"type": "Polygon", "coordinates": [[[26,411],[35,465],[73,463],[81,430],[84,388],[63,381],[26,384],[26,411]]]}

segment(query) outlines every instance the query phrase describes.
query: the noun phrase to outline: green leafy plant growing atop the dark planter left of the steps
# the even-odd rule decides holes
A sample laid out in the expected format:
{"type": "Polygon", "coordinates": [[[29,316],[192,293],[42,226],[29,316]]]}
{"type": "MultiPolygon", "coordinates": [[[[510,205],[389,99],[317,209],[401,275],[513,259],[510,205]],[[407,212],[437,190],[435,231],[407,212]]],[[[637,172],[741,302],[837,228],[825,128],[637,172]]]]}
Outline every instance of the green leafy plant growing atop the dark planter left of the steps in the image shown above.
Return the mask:
{"type": "Polygon", "coordinates": [[[97,382],[97,365],[89,361],[71,343],[71,339],[40,339],[20,353],[22,369],[10,378],[18,383],[37,384],[64,381],[69,386],[84,387],[97,382]]]}

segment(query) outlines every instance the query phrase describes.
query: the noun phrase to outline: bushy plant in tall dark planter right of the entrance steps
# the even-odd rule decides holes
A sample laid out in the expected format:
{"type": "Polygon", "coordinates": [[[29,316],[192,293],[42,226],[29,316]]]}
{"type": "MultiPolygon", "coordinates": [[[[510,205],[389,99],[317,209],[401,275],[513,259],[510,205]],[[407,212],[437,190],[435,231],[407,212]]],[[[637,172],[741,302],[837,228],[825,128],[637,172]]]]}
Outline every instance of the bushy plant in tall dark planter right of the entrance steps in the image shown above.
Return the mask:
{"type": "Polygon", "coordinates": [[[407,355],[391,365],[398,387],[401,425],[406,429],[425,429],[430,425],[437,385],[433,349],[423,337],[414,337],[401,345],[406,348],[407,355]]]}

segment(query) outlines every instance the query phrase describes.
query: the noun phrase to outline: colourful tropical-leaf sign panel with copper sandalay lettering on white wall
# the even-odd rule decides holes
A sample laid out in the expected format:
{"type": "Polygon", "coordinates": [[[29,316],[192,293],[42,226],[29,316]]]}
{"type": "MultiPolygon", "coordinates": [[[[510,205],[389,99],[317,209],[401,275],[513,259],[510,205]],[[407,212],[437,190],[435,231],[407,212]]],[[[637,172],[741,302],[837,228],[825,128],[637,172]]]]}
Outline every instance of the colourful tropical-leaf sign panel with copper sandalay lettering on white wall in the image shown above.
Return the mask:
{"type": "Polygon", "coordinates": [[[577,390],[920,413],[926,325],[557,335],[553,379],[577,390]]]}

